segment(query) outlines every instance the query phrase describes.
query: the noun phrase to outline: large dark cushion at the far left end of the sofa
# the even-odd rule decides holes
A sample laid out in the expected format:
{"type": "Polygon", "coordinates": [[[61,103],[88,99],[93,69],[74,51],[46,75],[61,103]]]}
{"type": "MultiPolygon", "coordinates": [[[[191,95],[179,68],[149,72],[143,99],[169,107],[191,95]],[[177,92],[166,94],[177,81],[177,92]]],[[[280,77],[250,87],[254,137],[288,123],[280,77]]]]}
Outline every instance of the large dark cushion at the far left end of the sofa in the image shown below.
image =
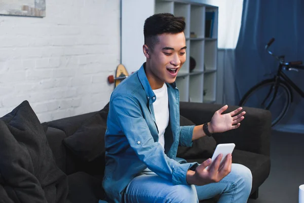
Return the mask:
{"type": "Polygon", "coordinates": [[[0,118],[0,157],[0,187],[5,186],[0,191],[6,191],[2,200],[65,202],[67,176],[56,165],[43,125],[28,101],[0,118]]]}

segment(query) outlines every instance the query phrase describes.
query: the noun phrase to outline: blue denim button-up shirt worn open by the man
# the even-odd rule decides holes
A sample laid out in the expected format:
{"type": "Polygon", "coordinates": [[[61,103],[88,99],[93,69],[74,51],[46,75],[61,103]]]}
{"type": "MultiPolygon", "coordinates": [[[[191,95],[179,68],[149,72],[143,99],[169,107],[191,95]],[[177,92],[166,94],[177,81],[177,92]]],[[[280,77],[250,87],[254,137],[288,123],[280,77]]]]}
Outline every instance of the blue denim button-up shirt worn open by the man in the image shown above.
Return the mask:
{"type": "Polygon", "coordinates": [[[105,133],[103,188],[110,202],[121,202],[131,182],[145,168],[174,185],[187,184],[186,173],[198,163],[180,163],[177,147],[192,146],[194,126],[179,126],[179,91],[175,82],[166,84],[169,124],[165,131],[165,151],[158,143],[153,103],[157,99],[144,71],[122,81],[112,92],[105,133]]]}

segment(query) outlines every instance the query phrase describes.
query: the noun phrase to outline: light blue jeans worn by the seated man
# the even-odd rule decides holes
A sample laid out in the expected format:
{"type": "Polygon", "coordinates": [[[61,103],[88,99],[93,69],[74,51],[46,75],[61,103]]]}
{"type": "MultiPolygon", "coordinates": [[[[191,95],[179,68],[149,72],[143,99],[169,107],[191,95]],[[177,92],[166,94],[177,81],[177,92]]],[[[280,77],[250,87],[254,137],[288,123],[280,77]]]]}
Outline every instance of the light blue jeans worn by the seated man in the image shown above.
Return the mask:
{"type": "Polygon", "coordinates": [[[232,164],[231,173],[218,183],[204,186],[173,185],[155,173],[145,170],[135,177],[124,193],[125,203],[133,202],[199,202],[220,194],[219,203],[247,202],[252,185],[249,168],[232,164]]]}

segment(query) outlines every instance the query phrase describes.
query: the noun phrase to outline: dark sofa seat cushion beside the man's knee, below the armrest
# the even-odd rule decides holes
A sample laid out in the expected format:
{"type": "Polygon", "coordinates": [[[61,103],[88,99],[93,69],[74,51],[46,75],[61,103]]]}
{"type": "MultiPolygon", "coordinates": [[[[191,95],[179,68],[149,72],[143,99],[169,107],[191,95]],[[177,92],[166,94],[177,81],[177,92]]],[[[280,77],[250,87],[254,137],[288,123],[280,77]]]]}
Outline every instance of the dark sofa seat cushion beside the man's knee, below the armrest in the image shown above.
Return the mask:
{"type": "MultiPolygon", "coordinates": [[[[198,159],[189,158],[188,162],[202,163],[211,156],[198,159]]],[[[248,167],[252,174],[252,190],[251,194],[256,191],[269,176],[270,172],[270,157],[262,154],[242,151],[235,149],[232,153],[232,162],[239,163],[248,167]]]]}

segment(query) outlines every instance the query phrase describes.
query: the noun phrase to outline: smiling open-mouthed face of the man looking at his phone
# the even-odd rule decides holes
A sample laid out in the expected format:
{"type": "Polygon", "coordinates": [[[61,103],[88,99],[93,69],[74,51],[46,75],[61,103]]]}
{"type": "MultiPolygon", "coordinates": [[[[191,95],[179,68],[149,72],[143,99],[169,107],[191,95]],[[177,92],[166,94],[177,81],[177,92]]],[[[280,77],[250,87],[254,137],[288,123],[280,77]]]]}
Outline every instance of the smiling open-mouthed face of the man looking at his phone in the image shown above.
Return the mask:
{"type": "Polygon", "coordinates": [[[183,32],[162,34],[153,50],[149,50],[146,74],[153,89],[160,88],[164,82],[173,83],[178,71],[186,60],[186,42],[183,32]]]}

